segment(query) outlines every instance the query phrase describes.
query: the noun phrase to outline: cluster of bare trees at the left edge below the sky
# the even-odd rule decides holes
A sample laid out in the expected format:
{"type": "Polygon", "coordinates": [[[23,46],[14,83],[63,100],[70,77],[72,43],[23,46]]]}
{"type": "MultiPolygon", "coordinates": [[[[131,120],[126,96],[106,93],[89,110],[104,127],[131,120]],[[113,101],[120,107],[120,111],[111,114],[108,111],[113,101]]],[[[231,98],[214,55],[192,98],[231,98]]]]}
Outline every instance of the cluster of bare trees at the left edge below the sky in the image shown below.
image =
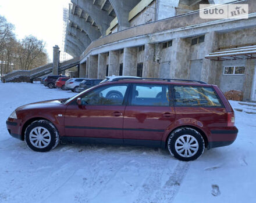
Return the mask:
{"type": "Polygon", "coordinates": [[[14,69],[31,70],[49,61],[45,42],[32,35],[17,41],[13,31],[14,26],[0,16],[1,76],[14,69]]]}

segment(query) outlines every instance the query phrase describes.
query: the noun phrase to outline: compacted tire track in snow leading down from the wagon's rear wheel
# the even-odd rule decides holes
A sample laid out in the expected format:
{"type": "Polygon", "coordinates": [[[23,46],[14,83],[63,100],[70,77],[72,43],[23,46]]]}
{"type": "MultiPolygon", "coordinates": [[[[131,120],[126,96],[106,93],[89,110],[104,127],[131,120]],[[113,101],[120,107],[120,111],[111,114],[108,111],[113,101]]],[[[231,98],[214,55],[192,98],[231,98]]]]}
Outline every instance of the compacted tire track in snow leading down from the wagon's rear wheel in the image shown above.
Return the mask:
{"type": "Polygon", "coordinates": [[[189,170],[189,166],[190,162],[179,161],[169,180],[166,181],[162,189],[158,190],[154,200],[151,202],[172,202],[180,188],[180,184],[182,184],[182,180],[189,170]]]}

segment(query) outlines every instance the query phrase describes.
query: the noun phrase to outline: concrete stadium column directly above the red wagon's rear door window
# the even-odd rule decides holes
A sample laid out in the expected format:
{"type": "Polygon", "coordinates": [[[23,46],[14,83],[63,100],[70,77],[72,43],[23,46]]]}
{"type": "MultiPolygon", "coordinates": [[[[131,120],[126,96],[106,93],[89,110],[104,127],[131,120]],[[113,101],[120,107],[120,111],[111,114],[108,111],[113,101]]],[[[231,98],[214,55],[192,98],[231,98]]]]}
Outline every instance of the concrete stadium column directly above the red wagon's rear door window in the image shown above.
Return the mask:
{"type": "Polygon", "coordinates": [[[145,44],[143,61],[143,78],[158,78],[159,63],[154,61],[155,44],[145,44]]]}

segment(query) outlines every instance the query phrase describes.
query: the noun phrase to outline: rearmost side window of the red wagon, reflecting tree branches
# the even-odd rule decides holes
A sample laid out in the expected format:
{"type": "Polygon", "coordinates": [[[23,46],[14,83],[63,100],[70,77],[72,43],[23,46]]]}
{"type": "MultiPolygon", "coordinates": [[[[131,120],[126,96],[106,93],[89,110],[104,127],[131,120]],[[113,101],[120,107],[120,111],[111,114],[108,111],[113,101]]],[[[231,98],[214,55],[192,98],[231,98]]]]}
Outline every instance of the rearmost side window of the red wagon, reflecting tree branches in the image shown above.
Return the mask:
{"type": "Polygon", "coordinates": [[[175,106],[222,107],[213,88],[174,86],[175,106]]]}

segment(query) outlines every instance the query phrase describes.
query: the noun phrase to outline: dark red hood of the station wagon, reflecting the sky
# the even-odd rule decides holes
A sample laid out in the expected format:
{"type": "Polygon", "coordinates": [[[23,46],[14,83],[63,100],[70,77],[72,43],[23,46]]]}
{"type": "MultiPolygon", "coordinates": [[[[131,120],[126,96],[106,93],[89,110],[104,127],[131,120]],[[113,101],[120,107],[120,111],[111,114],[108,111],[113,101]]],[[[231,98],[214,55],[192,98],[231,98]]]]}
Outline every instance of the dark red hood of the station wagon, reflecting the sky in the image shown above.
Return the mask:
{"type": "Polygon", "coordinates": [[[38,109],[38,108],[58,108],[58,107],[64,107],[65,105],[61,103],[62,99],[54,99],[54,100],[47,100],[42,102],[35,102],[31,104],[26,104],[23,106],[20,106],[16,109],[16,111],[23,111],[23,110],[29,110],[29,109],[38,109]]]}

